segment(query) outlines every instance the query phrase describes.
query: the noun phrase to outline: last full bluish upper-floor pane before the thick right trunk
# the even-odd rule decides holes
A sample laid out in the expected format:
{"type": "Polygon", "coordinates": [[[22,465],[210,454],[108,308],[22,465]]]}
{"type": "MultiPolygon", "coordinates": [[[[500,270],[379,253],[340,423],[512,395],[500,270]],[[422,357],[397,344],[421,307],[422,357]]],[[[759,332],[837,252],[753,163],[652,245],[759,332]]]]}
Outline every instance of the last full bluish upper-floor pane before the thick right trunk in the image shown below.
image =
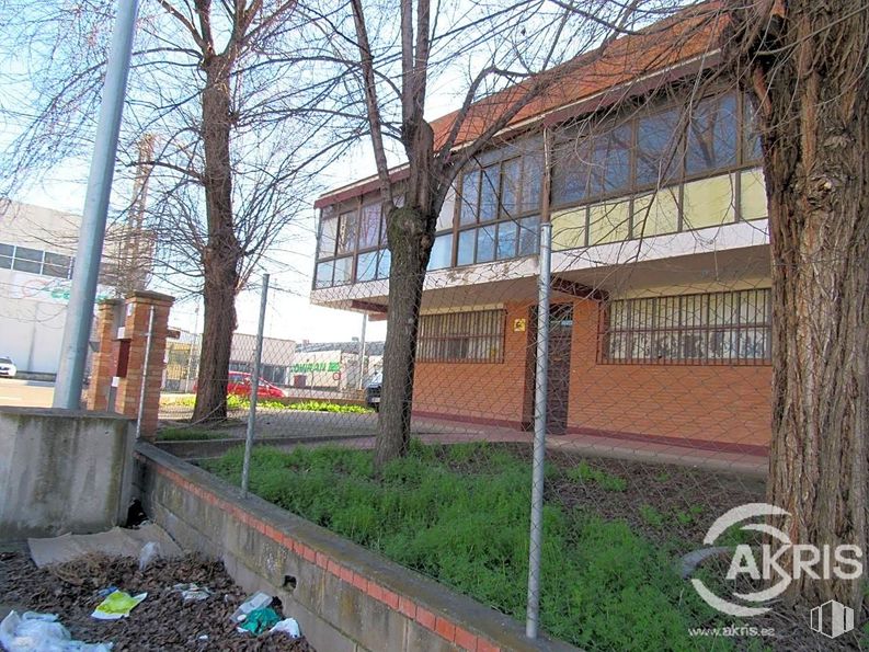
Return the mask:
{"type": "Polygon", "coordinates": [[[702,100],[691,112],[685,152],[685,172],[697,174],[736,162],[739,131],[736,96],[702,100]]]}

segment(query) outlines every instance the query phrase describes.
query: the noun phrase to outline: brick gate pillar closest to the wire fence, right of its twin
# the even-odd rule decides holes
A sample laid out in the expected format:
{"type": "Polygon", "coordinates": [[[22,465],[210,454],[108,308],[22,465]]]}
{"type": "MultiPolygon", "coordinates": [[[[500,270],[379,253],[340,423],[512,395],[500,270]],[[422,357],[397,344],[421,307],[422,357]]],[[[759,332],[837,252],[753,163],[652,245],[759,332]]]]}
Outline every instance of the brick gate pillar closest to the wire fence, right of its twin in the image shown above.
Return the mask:
{"type": "MultiPolygon", "coordinates": [[[[139,393],[145,371],[145,350],[148,342],[148,324],[151,308],[155,310],[151,351],[148,361],[148,378],[145,386],[145,403],[141,419],[141,437],[152,441],[157,434],[160,410],[160,386],[165,367],[165,341],[169,331],[169,310],[174,298],[152,291],[135,291],[126,300],[123,338],[129,340],[129,356],[126,375],[117,381],[116,410],[136,417],[139,412],[139,393]]],[[[123,366],[123,364],[122,364],[123,366]]]]}

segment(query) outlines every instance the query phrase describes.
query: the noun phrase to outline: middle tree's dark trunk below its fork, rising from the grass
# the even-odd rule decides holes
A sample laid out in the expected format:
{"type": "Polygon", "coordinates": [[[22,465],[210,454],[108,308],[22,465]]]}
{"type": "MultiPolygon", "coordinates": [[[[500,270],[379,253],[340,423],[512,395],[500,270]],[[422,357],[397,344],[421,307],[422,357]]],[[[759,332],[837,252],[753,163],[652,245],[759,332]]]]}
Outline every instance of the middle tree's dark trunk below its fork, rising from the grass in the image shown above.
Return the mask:
{"type": "Polygon", "coordinates": [[[395,208],[387,219],[391,261],[389,312],[384,348],[384,387],[380,392],[380,432],[375,466],[404,455],[410,444],[416,333],[425,267],[434,242],[434,222],[413,206],[395,208]]]}

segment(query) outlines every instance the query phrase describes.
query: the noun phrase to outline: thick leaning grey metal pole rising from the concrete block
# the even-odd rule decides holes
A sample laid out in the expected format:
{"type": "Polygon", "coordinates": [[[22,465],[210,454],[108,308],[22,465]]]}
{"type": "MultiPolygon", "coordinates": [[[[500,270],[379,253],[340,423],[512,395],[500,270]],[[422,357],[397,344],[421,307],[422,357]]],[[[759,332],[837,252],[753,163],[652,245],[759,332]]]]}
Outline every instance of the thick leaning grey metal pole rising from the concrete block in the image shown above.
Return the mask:
{"type": "Polygon", "coordinates": [[[103,252],[108,196],[115,172],[117,135],[124,110],[124,95],[136,28],[138,0],[119,0],[112,36],[112,50],[106,64],[103,99],[96,126],[88,193],[79,229],[76,267],[72,273],[72,291],[67,308],[67,321],[60,348],[54,407],[78,410],[81,404],[81,386],[88,357],[88,341],[93,323],[93,302],[100,259],[103,252]]]}

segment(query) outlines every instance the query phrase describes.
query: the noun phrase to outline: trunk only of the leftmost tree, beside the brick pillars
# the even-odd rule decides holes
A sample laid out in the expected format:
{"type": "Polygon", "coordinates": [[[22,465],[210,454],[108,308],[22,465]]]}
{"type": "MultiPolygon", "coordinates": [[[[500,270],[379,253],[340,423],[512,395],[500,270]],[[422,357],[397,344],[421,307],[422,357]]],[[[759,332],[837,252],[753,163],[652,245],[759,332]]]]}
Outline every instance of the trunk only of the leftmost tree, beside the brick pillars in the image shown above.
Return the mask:
{"type": "Polygon", "coordinates": [[[205,274],[204,330],[193,420],[219,421],[227,416],[229,352],[236,330],[236,294],[241,248],[232,216],[232,168],[229,158],[231,59],[211,56],[203,64],[203,145],[205,149],[205,207],[208,243],[203,253],[205,274]]]}

